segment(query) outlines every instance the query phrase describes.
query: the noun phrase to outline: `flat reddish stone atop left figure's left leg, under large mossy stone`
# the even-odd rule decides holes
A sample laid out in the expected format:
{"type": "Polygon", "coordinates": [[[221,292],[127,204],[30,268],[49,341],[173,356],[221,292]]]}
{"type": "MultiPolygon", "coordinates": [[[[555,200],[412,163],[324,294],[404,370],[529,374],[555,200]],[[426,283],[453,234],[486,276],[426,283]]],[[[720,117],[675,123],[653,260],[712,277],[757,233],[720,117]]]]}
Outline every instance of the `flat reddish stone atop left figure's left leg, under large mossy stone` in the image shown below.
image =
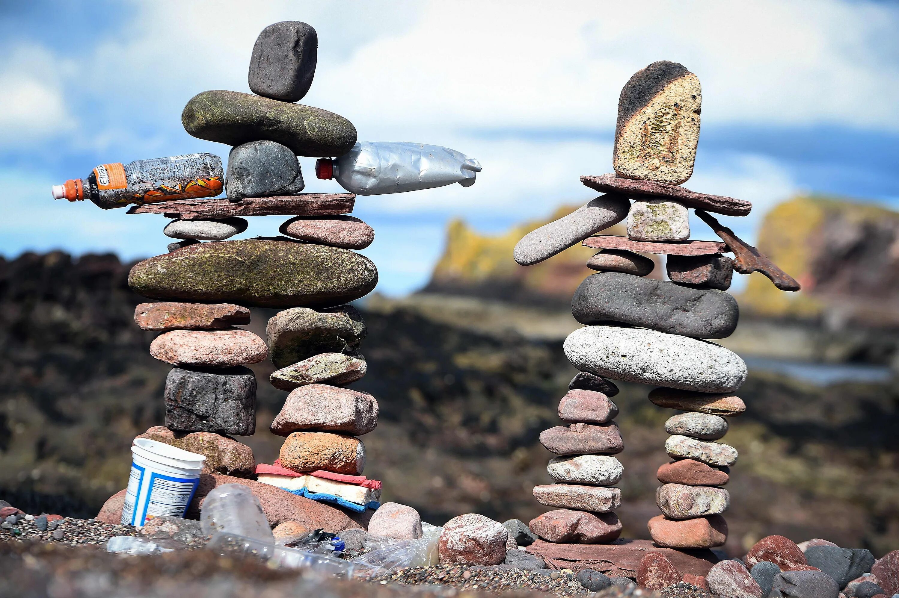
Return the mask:
{"type": "Polygon", "coordinates": [[[234,303],[140,303],[134,310],[140,330],[223,329],[250,323],[250,310],[234,303]]]}

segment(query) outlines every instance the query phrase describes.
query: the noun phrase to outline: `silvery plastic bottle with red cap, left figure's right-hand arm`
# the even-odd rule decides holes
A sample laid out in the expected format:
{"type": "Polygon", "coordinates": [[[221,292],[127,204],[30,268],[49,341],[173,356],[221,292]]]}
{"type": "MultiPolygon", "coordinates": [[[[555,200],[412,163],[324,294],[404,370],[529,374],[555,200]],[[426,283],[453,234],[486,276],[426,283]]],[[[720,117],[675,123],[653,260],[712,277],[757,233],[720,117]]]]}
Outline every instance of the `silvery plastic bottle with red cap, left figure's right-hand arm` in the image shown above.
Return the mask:
{"type": "Polygon", "coordinates": [[[405,142],[359,142],[349,154],[316,162],[316,177],[336,179],[357,195],[403,193],[458,182],[475,184],[481,164],[449,147],[405,142]]]}

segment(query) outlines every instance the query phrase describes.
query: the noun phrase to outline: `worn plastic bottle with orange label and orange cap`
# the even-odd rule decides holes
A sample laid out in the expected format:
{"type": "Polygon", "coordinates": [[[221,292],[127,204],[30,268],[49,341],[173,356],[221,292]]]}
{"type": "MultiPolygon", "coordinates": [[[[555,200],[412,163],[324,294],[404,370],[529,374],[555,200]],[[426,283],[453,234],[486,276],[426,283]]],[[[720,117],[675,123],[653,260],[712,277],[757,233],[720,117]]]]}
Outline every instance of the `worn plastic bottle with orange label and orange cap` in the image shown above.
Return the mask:
{"type": "Polygon", "coordinates": [[[53,185],[54,199],[90,199],[99,207],[211,198],[222,192],[225,172],[214,154],[184,154],[132,163],[100,164],[86,179],[53,185]]]}

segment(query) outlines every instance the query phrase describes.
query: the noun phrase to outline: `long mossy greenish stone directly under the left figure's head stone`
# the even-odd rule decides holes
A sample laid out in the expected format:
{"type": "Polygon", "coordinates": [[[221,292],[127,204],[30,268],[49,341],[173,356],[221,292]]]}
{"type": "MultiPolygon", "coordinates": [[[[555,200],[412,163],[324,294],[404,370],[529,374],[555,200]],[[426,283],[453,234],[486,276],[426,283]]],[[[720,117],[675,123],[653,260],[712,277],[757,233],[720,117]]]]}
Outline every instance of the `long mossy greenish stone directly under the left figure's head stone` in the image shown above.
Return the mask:
{"type": "Polygon", "coordinates": [[[275,141],[312,157],[343,155],[356,143],[352,122],[334,112],[252,93],[198,93],[184,106],[181,122],[200,139],[227,145],[275,141]]]}

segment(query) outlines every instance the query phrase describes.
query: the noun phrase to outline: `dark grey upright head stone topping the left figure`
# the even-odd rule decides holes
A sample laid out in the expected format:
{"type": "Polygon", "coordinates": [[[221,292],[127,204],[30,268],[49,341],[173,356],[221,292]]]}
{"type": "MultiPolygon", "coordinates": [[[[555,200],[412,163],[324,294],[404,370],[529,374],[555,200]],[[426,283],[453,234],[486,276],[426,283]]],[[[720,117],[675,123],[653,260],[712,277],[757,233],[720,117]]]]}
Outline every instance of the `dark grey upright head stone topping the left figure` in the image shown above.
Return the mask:
{"type": "Polygon", "coordinates": [[[273,100],[302,100],[317,61],[316,30],[299,21],[273,23],[256,38],[247,77],[250,89],[273,100]]]}

